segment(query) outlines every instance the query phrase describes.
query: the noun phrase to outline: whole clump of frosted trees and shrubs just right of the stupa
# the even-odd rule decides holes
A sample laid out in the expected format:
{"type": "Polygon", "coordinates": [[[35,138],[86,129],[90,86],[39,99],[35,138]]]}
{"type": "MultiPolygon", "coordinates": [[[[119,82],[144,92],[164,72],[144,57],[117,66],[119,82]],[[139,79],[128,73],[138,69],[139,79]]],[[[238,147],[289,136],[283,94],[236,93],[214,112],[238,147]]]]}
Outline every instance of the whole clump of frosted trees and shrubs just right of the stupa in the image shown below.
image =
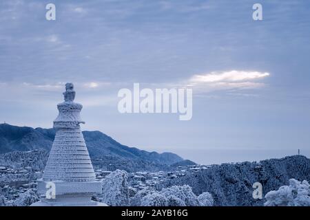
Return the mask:
{"type": "Polygon", "coordinates": [[[116,170],[103,179],[100,201],[109,206],[212,206],[213,198],[208,192],[197,197],[192,187],[172,186],[161,191],[145,188],[136,192],[127,184],[128,174],[116,170]],[[199,198],[199,199],[198,199],[199,198]]]}

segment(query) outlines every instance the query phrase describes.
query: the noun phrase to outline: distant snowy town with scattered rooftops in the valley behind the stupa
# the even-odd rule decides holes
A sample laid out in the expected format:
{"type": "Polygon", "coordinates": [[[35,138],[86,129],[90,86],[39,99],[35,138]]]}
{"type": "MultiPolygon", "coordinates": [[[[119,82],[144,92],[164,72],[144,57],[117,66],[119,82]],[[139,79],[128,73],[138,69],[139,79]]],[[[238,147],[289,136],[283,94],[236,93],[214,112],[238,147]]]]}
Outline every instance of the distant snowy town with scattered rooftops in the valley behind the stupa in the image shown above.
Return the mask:
{"type": "MultiPolygon", "coordinates": [[[[168,179],[176,179],[183,177],[189,173],[196,173],[198,170],[205,170],[211,166],[190,165],[178,166],[173,171],[148,172],[140,171],[129,173],[128,184],[134,191],[153,188],[156,184],[161,184],[168,179]]],[[[108,170],[95,170],[96,181],[102,181],[107,175],[112,173],[108,170]]],[[[37,181],[43,176],[43,170],[34,170],[30,166],[23,168],[14,168],[11,166],[3,166],[0,164],[0,195],[11,200],[19,197],[29,189],[37,192],[37,181]]]]}

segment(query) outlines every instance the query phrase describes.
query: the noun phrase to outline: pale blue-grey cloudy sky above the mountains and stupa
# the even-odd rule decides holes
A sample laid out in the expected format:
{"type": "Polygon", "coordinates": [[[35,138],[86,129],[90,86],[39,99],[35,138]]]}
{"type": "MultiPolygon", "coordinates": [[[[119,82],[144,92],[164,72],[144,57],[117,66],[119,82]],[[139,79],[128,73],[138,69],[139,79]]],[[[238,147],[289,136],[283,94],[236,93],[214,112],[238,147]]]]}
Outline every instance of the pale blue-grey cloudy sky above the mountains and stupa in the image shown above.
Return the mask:
{"type": "Polygon", "coordinates": [[[0,2],[0,120],[49,128],[74,83],[85,130],[203,164],[310,157],[309,1],[0,2]],[[56,21],[45,5],[56,5],[56,21]],[[190,85],[193,118],[121,114],[121,88],[190,85]]]}

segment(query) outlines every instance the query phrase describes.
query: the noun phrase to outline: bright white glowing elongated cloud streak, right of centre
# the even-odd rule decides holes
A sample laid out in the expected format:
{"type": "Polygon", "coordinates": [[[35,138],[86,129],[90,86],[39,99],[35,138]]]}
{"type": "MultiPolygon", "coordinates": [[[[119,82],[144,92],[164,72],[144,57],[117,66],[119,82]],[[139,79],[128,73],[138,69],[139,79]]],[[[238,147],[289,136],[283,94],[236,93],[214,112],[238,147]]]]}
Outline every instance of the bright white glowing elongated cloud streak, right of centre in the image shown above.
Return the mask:
{"type": "Polygon", "coordinates": [[[211,72],[210,74],[194,75],[192,83],[214,83],[214,82],[235,82],[243,80],[255,80],[269,76],[267,72],[247,72],[231,70],[229,72],[211,72]]]}

